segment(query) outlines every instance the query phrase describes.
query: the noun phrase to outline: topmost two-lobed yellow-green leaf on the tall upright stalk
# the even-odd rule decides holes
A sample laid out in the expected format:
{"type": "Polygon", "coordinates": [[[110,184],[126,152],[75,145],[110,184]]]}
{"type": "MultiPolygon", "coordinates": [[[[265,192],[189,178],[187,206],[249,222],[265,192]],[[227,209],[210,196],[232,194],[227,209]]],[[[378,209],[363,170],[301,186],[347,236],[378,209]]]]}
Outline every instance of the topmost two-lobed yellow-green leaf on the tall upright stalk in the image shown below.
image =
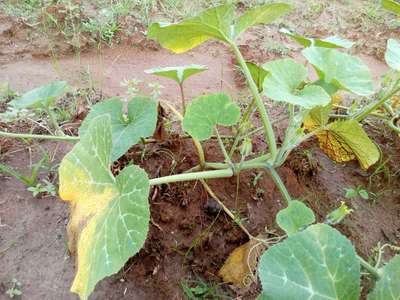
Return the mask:
{"type": "Polygon", "coordinates": [[[233,42],[248,27],[271,23],[289,10],[290,6],[284,3],[266,4],[235,20],[235,6],[221,5],[179,23],[153,23],[148,36],[164,48],[182,53],[210,39],[233,42]]]}

